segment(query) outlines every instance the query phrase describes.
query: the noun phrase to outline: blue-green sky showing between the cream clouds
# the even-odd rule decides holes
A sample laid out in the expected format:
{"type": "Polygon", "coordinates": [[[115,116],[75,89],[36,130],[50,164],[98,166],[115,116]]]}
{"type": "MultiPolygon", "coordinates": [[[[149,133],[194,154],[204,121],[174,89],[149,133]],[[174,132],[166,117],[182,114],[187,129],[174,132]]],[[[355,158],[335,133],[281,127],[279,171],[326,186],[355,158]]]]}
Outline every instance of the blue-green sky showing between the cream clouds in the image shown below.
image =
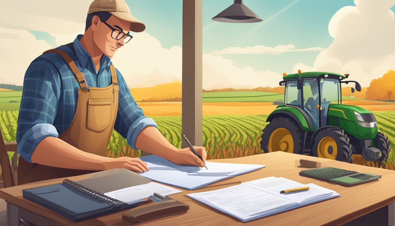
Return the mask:
{"type": "MultiPolygon", "coordinates": [[[[145,32],[158,39],[162,47],[182,46],[182,0],[126,0],[132,15],[146,25],[145,32]]],[[[244,0],[243,3],[261,19],[259,23],[221,23],[211,18],[233,4],[233,0],[203,0],[203,53],[228,47],[263,45],[276,47],[292,44],[295,49],[328,48],[333,38],[328,23],[344,6],[354,0],[244,0]]],[[[391,8],[395,10],[395,6],[391,8]]],[[[47,32],[30,31],[37,39],[56,47],[47,32]]],[[[83,31],[81,31],[83,32],[83,31]]],[[[139,34],[135,34],[136,36],[139,34]]],[[[320,51],[273,54],[227,54],[238,68],[290,73],[293,66],[313,66],[320,51]]]]}

